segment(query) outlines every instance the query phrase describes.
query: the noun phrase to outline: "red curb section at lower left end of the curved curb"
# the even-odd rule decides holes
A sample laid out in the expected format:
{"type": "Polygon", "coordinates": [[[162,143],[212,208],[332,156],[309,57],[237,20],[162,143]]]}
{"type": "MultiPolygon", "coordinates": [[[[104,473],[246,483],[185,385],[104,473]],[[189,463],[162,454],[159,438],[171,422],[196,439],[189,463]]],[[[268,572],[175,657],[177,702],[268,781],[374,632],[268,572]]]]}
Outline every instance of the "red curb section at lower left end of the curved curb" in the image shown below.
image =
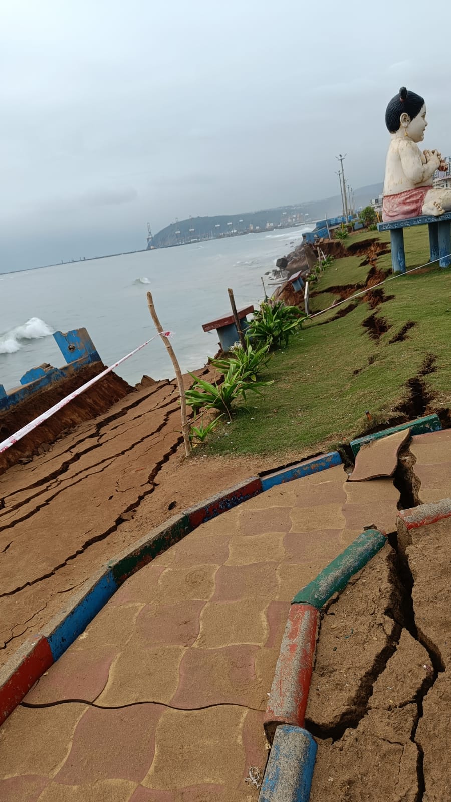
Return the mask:
{"type": "Polygon", "coordinates": [[[14,707],[30,691],[30,687],[54,662],[49,642],[42,635],[37,636],[35,645],[31,648],[30,641],[24,643],[22,655],[20,652],[21,650],[18,650],[11,658],[14,663],[14,673],[11,673],[8,666],[8,662],[11,661],[6,662],[0,671],[0,724],[8,718],[14,707]]]}

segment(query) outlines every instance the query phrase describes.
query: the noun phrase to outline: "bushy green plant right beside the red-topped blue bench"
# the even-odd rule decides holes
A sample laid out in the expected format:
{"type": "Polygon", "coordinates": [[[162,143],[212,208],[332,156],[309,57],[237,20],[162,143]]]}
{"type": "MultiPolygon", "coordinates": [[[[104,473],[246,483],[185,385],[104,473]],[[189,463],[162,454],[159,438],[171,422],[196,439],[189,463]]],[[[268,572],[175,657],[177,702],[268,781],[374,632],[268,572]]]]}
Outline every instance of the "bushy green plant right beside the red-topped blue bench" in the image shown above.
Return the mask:
{"type": "Polygon", "coordinates": [[[286,306],[282,301],[262,302],[246,329],[246,338],[257,346],[286,346],[290,334],[302,326],[305,317],[297,306],[286,306]]]}

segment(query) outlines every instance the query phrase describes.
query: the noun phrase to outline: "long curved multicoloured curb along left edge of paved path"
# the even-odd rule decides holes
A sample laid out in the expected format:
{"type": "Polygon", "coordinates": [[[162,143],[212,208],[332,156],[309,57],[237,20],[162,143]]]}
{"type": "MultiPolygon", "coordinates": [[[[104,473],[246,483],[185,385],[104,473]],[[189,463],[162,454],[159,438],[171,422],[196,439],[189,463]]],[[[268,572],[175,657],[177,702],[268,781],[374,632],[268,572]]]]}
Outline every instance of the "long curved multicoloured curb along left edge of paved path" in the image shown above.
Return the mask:
{"type": "MultiPolygon", "coordinates": [[[[338,452],[332,453],[338,454],[338,452]]],[[[279,481],[290,481],[323,470],[332,464],[324,464],[323,468],[316,467],[324,457],[327,459],[329,455],[305,460],[305,463],[299,463],[294,468],[275,472],[274,476],[280,474],[286,478],[279,481]],[[303,468],[306,464],[307,468],[303,468]]],[[[279,482],[275,481],[274,484],[279,482]]],[[[224,492],[211,496],[201,504],[181,511],[180,515],[173,516],[160,527],[152,529],[140,541],[108,561],[103,569],[95,573],[94,577],[87,580],[79,591],[70,597],[67,605],[59,610],[41,632],[28,638],[15,654],[11,655],[0,670],[0,725],[44,671],[61,657],[75,638],[78,638],[124,581],[197,526],[253,496],[258,496],[262,490],[260,477],[252,476],[232,488],[227,488],[224,492]]]]}

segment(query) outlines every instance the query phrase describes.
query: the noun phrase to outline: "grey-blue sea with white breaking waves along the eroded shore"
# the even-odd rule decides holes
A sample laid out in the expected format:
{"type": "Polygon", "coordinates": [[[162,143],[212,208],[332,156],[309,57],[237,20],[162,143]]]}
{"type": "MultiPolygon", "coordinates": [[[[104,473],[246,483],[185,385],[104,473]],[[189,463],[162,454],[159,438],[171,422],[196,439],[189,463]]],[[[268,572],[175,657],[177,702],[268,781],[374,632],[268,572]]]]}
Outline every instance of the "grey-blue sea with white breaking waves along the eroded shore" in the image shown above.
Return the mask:
{"type": "MultiPolygon", "coordinates": [[[[311,227],[0,274],[0,385],[17,387],[26,371],[43,363],[61,367],[63,357],[51,336],[56,330],[84,326],[104,364],[116,363],[155,333],[148,290],[161,325],[173,331],[182,371],[202,367],[218,350],[216,330],[205,333],[202,323],[230,314],[227,289],[234,290],[238,309],[257,307],[262,277],[265,281],[278,257],[300,244],[306,230],[311,227]]],[[[160,338],[116,372],[130,384],[144,374],[174,375],[160,338]]]]}

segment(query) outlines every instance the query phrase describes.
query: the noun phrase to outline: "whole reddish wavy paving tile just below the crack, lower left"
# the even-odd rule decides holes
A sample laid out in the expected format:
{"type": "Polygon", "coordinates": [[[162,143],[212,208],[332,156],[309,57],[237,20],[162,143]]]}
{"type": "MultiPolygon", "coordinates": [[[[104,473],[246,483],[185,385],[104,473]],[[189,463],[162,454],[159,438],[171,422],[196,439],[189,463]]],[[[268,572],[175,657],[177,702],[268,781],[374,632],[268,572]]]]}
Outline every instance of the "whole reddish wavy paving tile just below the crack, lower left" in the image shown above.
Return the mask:
{"type": "Polygon", "coordinates": [[[54,780],[64,785],[95,783],[104,777],[140,782],[152,765],[161,705],[120,710],[90,707],[75,728],[71,751],[54,780]]]}

